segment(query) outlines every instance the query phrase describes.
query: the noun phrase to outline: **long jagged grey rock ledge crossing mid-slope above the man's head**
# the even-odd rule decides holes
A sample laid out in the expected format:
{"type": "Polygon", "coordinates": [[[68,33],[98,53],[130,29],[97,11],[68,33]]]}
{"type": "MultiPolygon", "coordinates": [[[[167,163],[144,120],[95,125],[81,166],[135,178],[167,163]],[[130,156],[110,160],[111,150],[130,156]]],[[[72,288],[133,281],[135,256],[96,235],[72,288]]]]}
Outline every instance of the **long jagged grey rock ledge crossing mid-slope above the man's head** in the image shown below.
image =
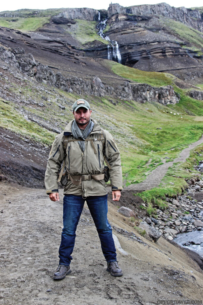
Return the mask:
{"type": "Polygon", "coordinates": [[[113,96],[122,100],[135,100],[137,102],[156,101],[164,105],[175,104],[179,101],[172,86],[152,87],[148,84],[137,84],[121,81],[119,85],[110,86],[101,81],[97,76],[89,79],[79,77],[64,77],[60,72],[54,72],[48,66],[35,61],[32,54],[25,54],[22,49],[13,48],[8,51],[0,47],[0,59],[5,64],[15,65],[23,73],[35,77],[39,82],[55,86],[67,92],[85,93],[96,96],[113,96]]]}

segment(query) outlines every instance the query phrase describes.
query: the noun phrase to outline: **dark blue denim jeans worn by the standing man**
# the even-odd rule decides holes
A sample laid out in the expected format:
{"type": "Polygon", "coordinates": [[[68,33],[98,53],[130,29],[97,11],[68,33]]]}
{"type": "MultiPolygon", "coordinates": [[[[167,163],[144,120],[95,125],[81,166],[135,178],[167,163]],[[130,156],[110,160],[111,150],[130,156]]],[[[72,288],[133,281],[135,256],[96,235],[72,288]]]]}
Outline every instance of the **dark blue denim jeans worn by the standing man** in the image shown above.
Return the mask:
{"type": "Polygon", "coordinates": [[[107,195],[82,196],[65,195],[63,199],[63,231],[59,247],[59,264],[70,265],[75,245],[75,231],[82,213],[85,201],[89,207],[96,230],[99,234],[103,255],[107,262],[116,261],[116,249],[112,229],[107,220],[107,195]]]}

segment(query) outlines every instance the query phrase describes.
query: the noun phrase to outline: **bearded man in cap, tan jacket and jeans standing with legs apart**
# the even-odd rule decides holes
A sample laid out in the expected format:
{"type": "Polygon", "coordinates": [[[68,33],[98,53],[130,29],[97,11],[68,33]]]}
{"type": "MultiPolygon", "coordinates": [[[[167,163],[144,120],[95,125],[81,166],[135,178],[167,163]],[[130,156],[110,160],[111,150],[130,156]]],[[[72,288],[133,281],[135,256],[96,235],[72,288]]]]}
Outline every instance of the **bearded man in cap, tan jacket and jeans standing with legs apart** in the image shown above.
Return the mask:
{"type": "MultiPolygon", "coordinates": [[[[91,119],[89,103],[79,99],[73,104],[72,120],[57,135],[51,148],[45,173],[46,192],[52,201],[59,201],[58,173],[65,160],[67,183],[63,199],[63,230],[59,247],[59,266],[54,279],[71,272],[70,263],[75,245],[75,231],[86,201],[99,234],[107,271],[122,275],[116,260],[112,229],[107,221],[107,189],[104,181],[104,160],[109,166],[112,198],[118,201],[122,190],[120,152],[108,131],[91,119]],[[64,156],[65,150],[65,156],[64,156]]],[[[62,167],[63,170],[64,167],[62,167]]],[[[61,172],[62,174],[62,172],[61,172]]]]}

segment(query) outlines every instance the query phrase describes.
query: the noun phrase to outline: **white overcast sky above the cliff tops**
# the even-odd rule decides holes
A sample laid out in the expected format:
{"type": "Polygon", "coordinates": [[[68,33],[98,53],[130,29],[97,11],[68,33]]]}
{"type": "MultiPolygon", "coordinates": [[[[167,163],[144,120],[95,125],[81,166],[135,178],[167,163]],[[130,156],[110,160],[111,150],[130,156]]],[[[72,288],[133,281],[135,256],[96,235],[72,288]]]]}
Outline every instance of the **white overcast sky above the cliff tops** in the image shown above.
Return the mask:
{"type": "MultiPolygon", "coordinates": [[[[92,9],[108,9],[109,0],[102,1],[94,1],[94,0],[75,0],[75,1],[65,1],[65,0],[35,0],[35,1],[27,1],[27,0],[9,0],[3,1],[1,0],[0,4],[0,12],[2,11],[13,11],[16,9],[56,9],[56,8],[68,8],[68,7],[89,7],[92,9]]],[[[161,2],[161,1],[160,1],[161,2]]],[[[119,3],[122,6],[132,6],[132,5],[141,5],[141,4],[157,4],[160,3],[156,0],[120,0],[118,2],[112,1],[112,3],[119,3]]],[[[184,6],[187,8],[190,7],[200,7],[202,6],[202,0],[167,0],[171,6],[180,7],[184,6]]]]}

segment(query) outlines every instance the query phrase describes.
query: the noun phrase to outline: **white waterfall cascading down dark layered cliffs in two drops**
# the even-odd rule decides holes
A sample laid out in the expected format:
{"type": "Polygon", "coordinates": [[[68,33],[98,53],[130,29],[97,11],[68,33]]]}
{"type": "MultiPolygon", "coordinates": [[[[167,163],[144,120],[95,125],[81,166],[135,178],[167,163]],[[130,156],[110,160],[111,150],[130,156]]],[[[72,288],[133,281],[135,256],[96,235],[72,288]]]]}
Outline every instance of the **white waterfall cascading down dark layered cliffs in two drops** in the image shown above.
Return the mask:
{"type": "MultiPolygon", "coordinates": [[[[98,20],[100,20],[99,12],[98,12],[98,20]]],[[[109,41],[109,45],[107,45],[108,59],[117,61],[118,63],[122,63],[121,53],[119,51],[119,46],[118,46],[117,41],[110,40],[110,38],[108,36],[105,36],[103,34],[103,30],[107,26],[107,20],[108,20],[108,18],[103,21],[100,21],[97,24],[97,29],[99,30],[98,35],[100,35],[100,37],[102,39],[106,39],[107,41],[109,41]]]]}

